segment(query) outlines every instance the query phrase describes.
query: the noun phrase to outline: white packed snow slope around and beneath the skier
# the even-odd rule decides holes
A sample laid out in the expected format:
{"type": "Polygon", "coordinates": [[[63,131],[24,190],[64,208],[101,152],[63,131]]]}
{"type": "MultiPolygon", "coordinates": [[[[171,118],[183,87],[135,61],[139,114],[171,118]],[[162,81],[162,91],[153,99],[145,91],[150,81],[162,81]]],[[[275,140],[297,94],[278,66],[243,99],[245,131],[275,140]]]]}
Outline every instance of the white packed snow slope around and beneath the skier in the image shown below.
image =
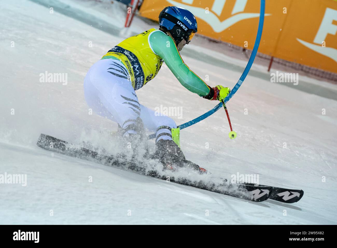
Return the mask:
{"type": "MultiPolygon", "coordinates": [[[[248,75],[227,104],[235,140],[223,110],[181,131],[187,159],[211,176],[258,174],[261,184],[303,189],[295,204],[248,202],[69,158],[38,148],[39,134],[118,149],[116,124],[89,114],[83,79],[124,38],[28,0],[3,1],[0,12],[0,174],[27,175],[25,187],[0,184],[0,224],[337,224],[335,100],[248,75]],[[46,71],[66,73],[67,83],[41,82],[46,71]]],[[[241,76],[206,55],[182,56],[212,86],[233,87],[241,76]]],[[[152,109],[181,108],[172,116],[178,124],[216,104],[187,91],[165,65],[137,95],[152,109]]]]}

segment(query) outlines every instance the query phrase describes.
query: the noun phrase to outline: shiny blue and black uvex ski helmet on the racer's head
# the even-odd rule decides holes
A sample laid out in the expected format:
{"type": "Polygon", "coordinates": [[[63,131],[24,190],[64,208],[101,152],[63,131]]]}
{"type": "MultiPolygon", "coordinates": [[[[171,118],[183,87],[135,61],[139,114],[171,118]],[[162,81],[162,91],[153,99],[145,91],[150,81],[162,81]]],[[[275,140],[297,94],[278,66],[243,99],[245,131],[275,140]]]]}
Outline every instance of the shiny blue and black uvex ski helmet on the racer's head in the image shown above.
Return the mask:
{"type": "Polygon", "coordinates": [[[197,32],[197,23],[193,14],[177,6],[168,6],[160,12],[159,27],[167,29],[176,45],[183,39],[188,44],[197,32]]]}

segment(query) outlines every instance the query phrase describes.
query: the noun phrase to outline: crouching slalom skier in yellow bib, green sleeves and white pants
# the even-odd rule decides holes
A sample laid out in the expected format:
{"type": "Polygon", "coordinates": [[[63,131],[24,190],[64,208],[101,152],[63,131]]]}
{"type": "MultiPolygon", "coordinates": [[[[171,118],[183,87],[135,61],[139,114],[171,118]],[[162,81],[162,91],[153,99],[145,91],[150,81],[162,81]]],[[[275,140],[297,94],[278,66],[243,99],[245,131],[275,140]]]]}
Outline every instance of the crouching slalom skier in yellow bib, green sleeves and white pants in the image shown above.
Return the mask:
{"type": "Polygon", "coordinates": [[[179,54],[196,32],[197,23],[190,11],[177,6],[164,8],[159,14],[159,29],[152,28],[123,40],[91,66],[84,79],[84,93],[89,107],[117,122],[121,135],[135,147],[146,141],[144,129],[156,132],[154,157],[164,166],[189,166],[205,171],[194,163],[186,163],[175,121],[141,105],[135,93],[158,74],[165,62],[189,91],[208,100],[225,98],[229,88],[208,86],[179,54]]]}

